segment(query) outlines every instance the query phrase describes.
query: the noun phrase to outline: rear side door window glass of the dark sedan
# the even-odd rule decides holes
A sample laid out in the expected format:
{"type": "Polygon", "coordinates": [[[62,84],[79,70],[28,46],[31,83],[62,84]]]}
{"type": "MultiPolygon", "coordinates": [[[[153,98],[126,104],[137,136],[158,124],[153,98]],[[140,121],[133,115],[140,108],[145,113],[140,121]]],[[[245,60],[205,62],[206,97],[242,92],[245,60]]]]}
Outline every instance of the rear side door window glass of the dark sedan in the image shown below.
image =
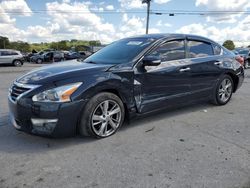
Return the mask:
{"type": "Polygon", "coordinates": [[[188,41],[189,58],[206,57],[214,55],[211,44],[201,41],[188,41]]]}

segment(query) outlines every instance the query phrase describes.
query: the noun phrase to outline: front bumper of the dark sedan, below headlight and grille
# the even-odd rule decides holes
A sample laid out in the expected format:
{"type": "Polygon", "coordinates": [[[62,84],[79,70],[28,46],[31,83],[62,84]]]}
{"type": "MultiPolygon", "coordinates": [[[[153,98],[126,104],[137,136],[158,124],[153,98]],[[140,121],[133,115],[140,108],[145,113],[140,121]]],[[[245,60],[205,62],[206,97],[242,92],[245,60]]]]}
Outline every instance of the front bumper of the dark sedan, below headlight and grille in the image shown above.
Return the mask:
{"type": "Polygon", "coordinates": [[[29,98],[20,98],[14,102],[10,97],[8,101],[10,120],[17,130],[50,137],[75,135],[78,119],[86,104],[86,100],[69,103],[34,103],[29,98]],[[41,121],[42,124],[34,124],[41,121]]]}

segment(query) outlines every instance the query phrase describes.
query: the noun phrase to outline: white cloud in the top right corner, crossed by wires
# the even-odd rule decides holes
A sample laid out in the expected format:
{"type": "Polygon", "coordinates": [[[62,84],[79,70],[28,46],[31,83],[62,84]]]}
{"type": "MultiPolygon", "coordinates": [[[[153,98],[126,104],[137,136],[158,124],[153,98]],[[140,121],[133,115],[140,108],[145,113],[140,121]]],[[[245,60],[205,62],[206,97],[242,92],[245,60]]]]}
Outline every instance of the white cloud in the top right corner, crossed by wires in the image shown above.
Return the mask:
{"type": "MultiPolygon", "coordinates": [[[[196,0],[197,7],[205,7],[208,11],[245,11],[250,7],[249,0],[196,0]]],[[[215,14],[207,16],[207,22],[235,23],[239,14],[215,14]]]]}

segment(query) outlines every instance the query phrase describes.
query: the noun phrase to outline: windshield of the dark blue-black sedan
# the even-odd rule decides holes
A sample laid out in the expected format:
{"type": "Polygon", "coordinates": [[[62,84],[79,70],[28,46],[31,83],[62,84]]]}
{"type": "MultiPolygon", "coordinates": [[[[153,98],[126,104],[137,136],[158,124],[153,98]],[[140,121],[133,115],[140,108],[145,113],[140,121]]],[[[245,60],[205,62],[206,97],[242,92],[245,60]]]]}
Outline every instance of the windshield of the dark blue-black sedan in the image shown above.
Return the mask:
{"type": "Polygon", "coordinates": [[[152,38],[128,38],[111,43],[91,55],[84,62],[96,64],[121,64],[132,61],[155,40],[152,38]]]}

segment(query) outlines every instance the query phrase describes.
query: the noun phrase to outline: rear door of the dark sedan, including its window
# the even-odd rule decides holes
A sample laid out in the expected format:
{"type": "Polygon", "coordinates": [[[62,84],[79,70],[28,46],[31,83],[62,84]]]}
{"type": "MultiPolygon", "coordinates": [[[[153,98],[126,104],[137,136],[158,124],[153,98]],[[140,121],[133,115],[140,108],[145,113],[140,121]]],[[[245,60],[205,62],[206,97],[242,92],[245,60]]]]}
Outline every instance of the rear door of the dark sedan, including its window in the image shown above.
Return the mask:
{"type": "MultiPolygon", "coordinates": [[[[196,97],[209,97],[218,80],[221,69],[221,55],[214,44],[195,38],[187,39],[187,59],[190,66],[191,93],[196,97]],[[216,51],[217,50],[217,51],[216,51]]],[[[221,50],[221,49],[220,49],[221,50]]]]}

